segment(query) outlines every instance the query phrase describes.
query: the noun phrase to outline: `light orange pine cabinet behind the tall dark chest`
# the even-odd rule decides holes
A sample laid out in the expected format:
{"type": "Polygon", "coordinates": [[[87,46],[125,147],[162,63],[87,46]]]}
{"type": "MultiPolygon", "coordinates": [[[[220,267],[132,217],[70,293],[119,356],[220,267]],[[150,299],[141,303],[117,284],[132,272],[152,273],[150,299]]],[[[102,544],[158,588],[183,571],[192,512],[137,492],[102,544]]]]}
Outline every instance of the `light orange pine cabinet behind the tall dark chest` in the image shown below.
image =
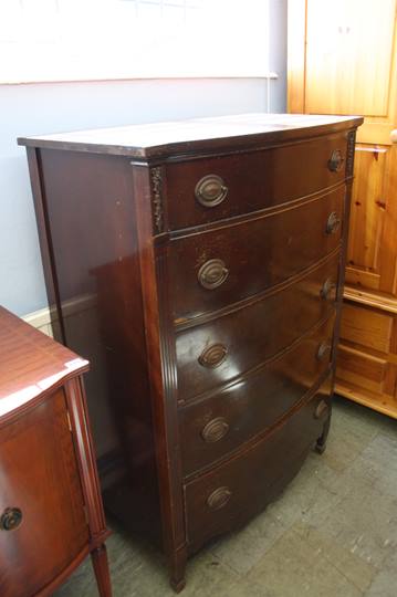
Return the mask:
{"type": "Polygon", "coordinates": [[[397,418],[396,10],[396,0],[289,0],[288,97],[291,112],[365,116],[336,388],[397,418]]]}

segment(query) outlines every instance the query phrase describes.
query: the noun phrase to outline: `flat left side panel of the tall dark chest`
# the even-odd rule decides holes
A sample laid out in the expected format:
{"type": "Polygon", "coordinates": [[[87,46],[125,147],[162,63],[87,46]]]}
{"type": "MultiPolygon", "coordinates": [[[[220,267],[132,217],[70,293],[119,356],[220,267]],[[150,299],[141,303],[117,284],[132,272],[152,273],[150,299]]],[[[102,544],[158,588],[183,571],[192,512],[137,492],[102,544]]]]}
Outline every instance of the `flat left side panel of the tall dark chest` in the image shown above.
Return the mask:
{"type": "Polygon", "coordinates": [[[96,452],[117,454],[102,480],[106,504],[114,512],[126,488],[139,523],[150,521],[158,535],[133,167],[128,159],[49,150],[41,164],[65,342],[92,363],[85,385],[96,452]]]}

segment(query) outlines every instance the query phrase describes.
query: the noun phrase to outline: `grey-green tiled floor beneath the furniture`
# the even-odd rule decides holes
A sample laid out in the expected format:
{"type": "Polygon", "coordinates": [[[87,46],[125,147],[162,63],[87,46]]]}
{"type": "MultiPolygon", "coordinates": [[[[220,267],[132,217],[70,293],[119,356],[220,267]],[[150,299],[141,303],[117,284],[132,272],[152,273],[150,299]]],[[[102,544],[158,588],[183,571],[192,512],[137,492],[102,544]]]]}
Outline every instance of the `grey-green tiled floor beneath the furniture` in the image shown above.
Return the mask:
{"type": "MultiPolygon", "coordinates": [[[[283,495],[187,568],[184,597],[396,597],[397,421],[342,398],[328,444],[283,495]]],[[[161,556],[115,528],[114,597],[167,597],[161,556]]],[[[96,597],[90,562],[56,597],[96,597]]]]}

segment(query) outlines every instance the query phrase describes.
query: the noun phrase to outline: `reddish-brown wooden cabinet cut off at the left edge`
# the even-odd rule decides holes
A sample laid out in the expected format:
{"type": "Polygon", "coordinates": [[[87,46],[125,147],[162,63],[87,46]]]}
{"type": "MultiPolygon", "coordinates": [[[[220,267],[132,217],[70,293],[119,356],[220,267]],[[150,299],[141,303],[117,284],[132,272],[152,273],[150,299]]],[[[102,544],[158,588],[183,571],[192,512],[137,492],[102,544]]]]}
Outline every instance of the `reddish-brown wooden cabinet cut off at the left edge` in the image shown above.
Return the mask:
{"type": "Polygon", "coordinates": [[[1,597],[49,597],[90,553],[98,594],[112,597],[87,368],[0,307],[1,597]]]}

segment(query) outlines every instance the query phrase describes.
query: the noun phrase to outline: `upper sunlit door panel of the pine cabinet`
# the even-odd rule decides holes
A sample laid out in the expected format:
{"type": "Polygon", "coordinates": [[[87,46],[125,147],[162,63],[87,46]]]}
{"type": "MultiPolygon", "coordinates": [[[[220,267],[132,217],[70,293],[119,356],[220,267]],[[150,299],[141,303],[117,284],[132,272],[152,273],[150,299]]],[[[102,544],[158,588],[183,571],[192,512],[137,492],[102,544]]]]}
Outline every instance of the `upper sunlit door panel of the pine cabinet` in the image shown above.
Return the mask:
{"type": "Polygon", "coordinates": [[[307,112],[387,115],[395,11],[396,0],[307,0],[307,112]]]}

